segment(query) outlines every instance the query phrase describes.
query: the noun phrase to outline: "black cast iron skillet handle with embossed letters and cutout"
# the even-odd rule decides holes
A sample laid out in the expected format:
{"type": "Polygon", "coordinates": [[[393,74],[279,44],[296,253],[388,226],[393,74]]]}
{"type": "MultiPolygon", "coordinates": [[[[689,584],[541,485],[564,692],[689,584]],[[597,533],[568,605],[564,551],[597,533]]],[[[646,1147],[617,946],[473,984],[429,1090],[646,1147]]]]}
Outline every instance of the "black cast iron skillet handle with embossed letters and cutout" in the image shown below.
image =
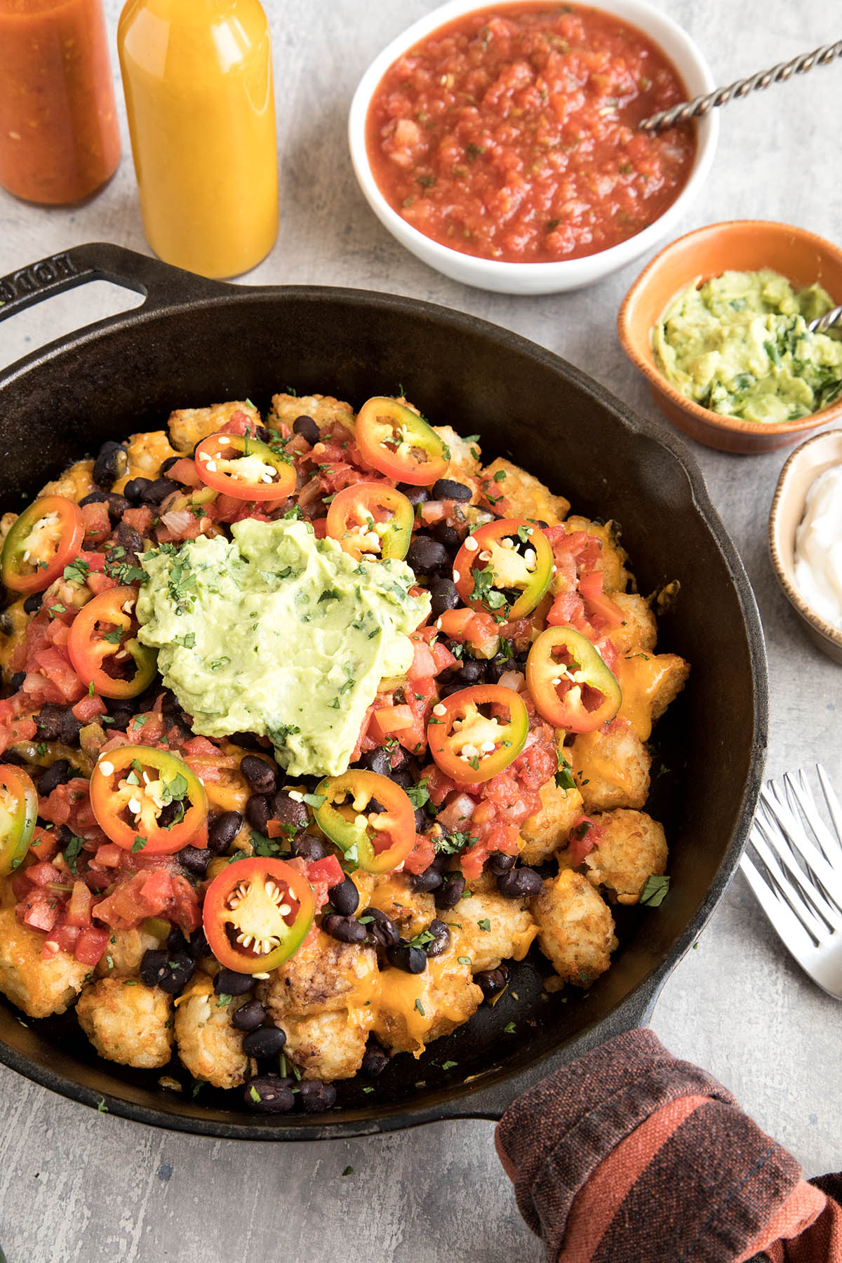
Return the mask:
{"type": "Polygon", "coordinates": [[[0,278],[0,321],[88,280],[110,280],[124,289],[134,289],[145,297],[144,309],[165,307],[178,294],[182,301],[189,301],[218,294],[227,288],[225,282],[207,280],[192,272],[182,272],[181,268],[172,268],[168,263],[135,250],[126,250],[109,241],[92,241],[71,246],[69,250],[18,268],[0,278]]]}

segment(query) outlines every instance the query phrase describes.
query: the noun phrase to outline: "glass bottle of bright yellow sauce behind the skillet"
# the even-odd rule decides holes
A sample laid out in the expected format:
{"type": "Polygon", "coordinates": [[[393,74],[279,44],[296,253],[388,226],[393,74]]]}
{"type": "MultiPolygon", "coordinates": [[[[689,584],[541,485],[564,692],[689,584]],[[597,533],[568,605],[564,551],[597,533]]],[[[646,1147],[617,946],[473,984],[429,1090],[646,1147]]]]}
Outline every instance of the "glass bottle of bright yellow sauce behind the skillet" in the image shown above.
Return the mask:
{"type": "Polygon", "coordinates": [[[278,235],[271,45],[258,0],[129,0],[117,30],[140,208],[165,263],[254,268],[278,235]]]}

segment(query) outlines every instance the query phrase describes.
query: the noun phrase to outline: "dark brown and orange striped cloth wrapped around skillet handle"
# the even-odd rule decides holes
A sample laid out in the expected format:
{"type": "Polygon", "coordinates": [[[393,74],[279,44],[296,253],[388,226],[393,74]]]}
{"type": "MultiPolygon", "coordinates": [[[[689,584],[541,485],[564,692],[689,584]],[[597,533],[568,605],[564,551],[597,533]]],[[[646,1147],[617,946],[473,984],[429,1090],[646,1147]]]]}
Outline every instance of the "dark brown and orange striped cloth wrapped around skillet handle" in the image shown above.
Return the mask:
{"type": "Polygon", "coordinates": [[[842,1263],[842,1176],[805,1182],[731,1092],[651,1031],[530,1089],[496,1144],[550,1263],[842,1263]]]}

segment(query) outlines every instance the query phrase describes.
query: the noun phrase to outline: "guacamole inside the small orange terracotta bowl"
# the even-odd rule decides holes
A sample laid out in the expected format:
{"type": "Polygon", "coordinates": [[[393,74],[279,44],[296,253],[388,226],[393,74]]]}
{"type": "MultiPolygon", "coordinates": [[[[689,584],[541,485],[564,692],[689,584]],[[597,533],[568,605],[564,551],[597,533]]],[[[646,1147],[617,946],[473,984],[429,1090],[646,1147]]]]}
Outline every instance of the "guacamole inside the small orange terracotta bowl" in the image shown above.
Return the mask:
{"type": "Polygon", "coordinates": [[[688,399],[726,417],[809,417],[842,392],[842,342],[810,333],[833,306],[819,287],[794,290],[770,268],[699,277],[653,330],[661,373],[688,399]]]}

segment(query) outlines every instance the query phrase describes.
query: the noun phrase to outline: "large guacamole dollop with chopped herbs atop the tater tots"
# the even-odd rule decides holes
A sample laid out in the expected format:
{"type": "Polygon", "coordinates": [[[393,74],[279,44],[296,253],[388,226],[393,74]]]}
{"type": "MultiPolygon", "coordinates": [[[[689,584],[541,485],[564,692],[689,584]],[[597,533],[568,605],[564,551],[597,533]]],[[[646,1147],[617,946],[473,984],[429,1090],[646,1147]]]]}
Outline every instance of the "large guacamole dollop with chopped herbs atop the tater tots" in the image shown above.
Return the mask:
{"type": "Polygon", "coordinates": [[[401,561],[357,562],[305,522],[246,519],[141,558],[138,638],[205,736],[268,736],[293,775],[338,775],[429,614],[401,561]]]}

